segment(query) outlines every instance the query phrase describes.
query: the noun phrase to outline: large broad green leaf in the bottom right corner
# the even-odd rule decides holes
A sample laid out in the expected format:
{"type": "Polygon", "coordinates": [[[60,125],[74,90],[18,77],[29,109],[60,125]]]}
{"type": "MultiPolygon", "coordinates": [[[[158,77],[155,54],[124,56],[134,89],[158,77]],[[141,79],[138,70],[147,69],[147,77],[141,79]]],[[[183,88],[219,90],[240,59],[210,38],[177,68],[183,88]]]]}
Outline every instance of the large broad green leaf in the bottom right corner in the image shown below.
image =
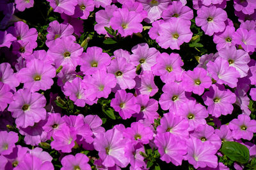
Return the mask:
{"type": "Polygon", "coordinates": [[[246,164],[250,158],[249,150],[243,144],[226,141],[222,144],[220,151],[230,160],[246,164]]]}

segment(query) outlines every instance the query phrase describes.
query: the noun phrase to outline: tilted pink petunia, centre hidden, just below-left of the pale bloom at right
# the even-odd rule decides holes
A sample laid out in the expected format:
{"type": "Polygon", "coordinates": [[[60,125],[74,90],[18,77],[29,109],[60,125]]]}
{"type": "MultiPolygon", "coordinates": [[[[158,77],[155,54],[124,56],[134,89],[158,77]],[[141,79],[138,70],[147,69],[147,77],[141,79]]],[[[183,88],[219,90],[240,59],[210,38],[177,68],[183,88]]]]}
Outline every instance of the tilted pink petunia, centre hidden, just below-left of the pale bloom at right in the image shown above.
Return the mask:
{"type": "Polygon", "coordinates": [[[218,84],[227,84],[230,88],[237,86],[237,78],[240,77],[240,74],[236,68],[229,66],[225,59],[219,57],[214,62],[209,61],[207,71],[218,84]]]}

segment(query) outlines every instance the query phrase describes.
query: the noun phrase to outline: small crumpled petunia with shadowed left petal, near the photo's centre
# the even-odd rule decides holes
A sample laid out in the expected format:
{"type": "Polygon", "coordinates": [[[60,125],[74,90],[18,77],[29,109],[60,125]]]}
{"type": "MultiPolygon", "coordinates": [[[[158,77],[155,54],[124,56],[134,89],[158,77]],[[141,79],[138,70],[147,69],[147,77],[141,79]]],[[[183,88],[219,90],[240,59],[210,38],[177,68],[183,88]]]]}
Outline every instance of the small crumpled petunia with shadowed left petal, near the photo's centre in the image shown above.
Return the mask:
{"type": "Polygon", "coordinates": [[[143,75],[135,78],[136,88],[138,88],[138,92],[141,95],[149,95],[150,97],[154,96],[158,88],[154,82],[154,75],[150,71],[143,72],[143,75]]]}

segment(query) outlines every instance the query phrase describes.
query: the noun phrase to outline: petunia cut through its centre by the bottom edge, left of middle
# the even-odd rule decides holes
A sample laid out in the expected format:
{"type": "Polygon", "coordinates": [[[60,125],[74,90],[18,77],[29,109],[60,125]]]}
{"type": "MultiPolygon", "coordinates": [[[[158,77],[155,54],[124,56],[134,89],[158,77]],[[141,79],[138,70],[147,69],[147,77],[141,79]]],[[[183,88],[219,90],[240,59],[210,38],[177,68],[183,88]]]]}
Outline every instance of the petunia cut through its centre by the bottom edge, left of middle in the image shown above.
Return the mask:
{"type": "Polygon", "coordinates": [[[91,166],[88,164],[89,158],[83,153],[77,153],[74,155],[67,155],[61,159],[61,170],[69,169],[91,169],[91,166]]]}

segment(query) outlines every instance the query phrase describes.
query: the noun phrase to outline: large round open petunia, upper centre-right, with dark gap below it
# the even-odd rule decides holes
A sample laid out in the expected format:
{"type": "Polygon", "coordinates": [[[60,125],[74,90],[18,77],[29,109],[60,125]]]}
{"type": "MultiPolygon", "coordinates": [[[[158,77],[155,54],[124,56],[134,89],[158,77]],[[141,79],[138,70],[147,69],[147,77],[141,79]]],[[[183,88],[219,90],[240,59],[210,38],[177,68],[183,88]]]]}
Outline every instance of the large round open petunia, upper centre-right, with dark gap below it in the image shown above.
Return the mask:
{"type": "Polygon", "coordinates": [[[188,43],[193,33],[190,30],[190,20],[172,17],[160,25],[159,36],[156,41],[164,49],[180,49],[180,45],[188,43]]]}

